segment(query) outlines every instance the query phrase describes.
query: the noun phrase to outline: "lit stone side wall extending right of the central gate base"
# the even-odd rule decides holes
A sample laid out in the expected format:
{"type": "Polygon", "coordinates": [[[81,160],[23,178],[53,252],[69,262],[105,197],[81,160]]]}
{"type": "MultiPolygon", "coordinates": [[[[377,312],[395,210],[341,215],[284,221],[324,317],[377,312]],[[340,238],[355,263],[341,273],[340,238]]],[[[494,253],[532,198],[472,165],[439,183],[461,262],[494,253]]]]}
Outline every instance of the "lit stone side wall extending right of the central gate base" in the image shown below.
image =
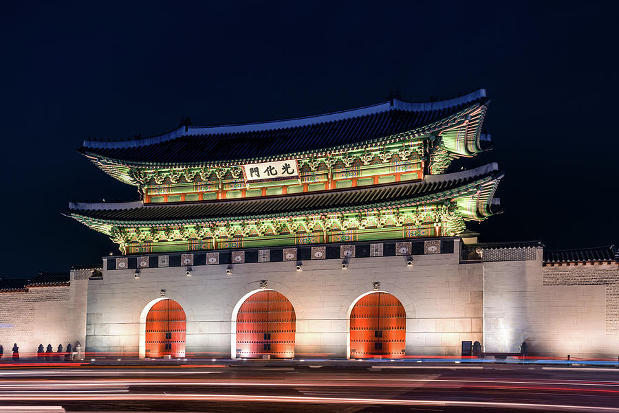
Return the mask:
{"type": "Polygon", "coordinates": [[[484,350],[530,355],[617,357],[617,263],[543,266],[534,260],[493,260],[484,251],[484,350]]]}

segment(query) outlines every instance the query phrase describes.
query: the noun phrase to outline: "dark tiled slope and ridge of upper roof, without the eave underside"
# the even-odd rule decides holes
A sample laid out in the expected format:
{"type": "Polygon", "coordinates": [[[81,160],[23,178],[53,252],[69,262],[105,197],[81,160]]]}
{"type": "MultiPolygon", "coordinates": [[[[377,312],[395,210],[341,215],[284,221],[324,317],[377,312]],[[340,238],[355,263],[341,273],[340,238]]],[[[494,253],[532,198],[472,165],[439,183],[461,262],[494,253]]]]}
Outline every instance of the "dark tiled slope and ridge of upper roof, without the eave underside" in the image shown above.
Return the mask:
{"type": "Polygon", "coordinates": [[[374,107],[297,120],[229,126],[189,126],[188,129],[158,137],[127,142],[85,141],[80,152],[124,161],[159,163],[225,161],[230,159],[231,154],[234,154],[235,159],[253,159],[300,153],[411,131],[482,102],[486,99],[485,96],[484,89],[480,89],[453,100],[453,104],[409,104],[398,101],[398,107],[404,109],[393,109],[387,102],[374,107]],[[413,105],[411,108],[417,109],[406,109],[406,105],[413,105]],[[374,110],[376,113],[372,113],[371,109],[375,107],[378,109],[374,110]],[[384,107],[387,109],[382,110],[384,107]],[[425,109],[426,107],[430,109],[425,109]],[[358,115],[359,113],[367,114],[358,115]]]}

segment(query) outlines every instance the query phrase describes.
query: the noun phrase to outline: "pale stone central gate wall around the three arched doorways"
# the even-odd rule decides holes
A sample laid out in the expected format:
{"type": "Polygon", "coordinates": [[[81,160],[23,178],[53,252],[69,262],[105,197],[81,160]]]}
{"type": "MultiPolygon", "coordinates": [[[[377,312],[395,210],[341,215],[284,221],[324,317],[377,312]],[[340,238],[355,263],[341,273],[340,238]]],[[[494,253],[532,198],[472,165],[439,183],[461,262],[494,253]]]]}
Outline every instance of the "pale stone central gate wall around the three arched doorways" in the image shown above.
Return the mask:
{"type": "MultiPolygon", "coordinates": [[[[87,350],[136,355],[140,351],[140,317],[146,306],[165,296],[179,302],[187,318],[188,357],[229,358],[234,336],[234,309],[261,280],[283,293],[296,312],[296,357],[347,357],[349,311],[361,295],[392,293],[406,310],[406,355],[459,355],[461,341],[482,342],[481,263],[460,263],[459,240],[453,252],[413,256],[351,258],[296,262],[197,265],[186,267],[107,269],[89,281],[87,350]]],[[[113,260],[115,258],[105,258],[113,260]]],[[[143,334],[143,333],[142,333],[143,334]]]]}

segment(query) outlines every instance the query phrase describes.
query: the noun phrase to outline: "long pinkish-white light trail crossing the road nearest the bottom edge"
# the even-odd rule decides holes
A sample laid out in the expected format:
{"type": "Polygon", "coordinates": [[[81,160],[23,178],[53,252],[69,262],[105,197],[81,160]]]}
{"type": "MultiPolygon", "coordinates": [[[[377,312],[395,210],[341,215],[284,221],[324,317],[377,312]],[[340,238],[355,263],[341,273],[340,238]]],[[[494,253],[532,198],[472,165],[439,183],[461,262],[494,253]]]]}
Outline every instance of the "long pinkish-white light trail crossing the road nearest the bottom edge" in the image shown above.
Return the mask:
{"type": "Polygon", "coordinates": [[[444,407],[477,407],[477,408],[512,408],[512,409],[539,409],[559,411],[595,411],[619,412],[619,408],[605,408],[587,405],[559,405],[545,403],[517,403],[497,401],[459,401],[459,400],[423,400],[423,399],[369,399],[354,397],[299,397],[299,396],[259,396],[239,394],[56,394],[32,395],[3,395],[3,401],[235,401],[260,403],[320,403],[343,405],[423,405],[444,407]]]}

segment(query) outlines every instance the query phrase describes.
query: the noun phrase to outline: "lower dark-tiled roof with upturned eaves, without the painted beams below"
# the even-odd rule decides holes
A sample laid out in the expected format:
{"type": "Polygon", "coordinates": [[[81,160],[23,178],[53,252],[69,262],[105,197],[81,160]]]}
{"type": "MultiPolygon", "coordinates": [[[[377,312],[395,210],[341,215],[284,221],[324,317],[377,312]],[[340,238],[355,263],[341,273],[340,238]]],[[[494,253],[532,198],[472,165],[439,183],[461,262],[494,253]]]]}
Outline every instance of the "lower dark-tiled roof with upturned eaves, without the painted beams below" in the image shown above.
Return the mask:
{"type": "Polygon", "coordinates": [[[488,164],[481,168],[453,174],[430,175],[417,182],[407,181],[369,188],[349,188],[257,199],[229,199],[166,205],[144,205],[141,201],[111,205],[74,202],[69,204],[67,216],[89,227],[107,232],[101,227],[102,224],[221,222],[301,214],[367,212],[380,208],[410,207],[477,196],[474,203],[468,203],[468,210],[461,212],[465,218],[481,220],[497,212],[496,203],[494,206],[492,203],[492,194],[502,176],[497,164],[488,164]]]}

